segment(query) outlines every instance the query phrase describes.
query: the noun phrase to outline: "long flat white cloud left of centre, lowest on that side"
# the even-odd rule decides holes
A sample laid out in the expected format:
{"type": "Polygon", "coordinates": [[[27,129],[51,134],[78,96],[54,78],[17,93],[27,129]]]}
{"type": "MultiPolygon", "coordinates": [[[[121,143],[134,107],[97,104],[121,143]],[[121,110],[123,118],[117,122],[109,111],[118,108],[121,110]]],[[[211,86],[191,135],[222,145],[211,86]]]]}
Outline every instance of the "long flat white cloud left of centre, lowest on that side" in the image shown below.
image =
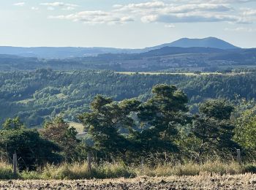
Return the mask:
{"type": "Polygon", "coordinates": [[[50,16],[49,18],[59,18],[72,21],[81,21],[83,23],[98,24],[98,23],[127,23],[133,21],[133,18],[127,15],[113,14],[112,12],[96,11],[83,11],[70,15],[50,16]]]}

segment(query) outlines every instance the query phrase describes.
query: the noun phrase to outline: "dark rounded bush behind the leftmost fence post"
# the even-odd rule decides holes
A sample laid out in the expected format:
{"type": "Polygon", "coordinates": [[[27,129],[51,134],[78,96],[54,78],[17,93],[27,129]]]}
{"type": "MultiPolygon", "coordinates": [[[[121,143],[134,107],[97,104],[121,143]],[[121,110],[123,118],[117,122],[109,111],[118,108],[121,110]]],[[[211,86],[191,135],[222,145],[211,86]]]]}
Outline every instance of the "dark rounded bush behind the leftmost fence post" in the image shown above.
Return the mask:
{"type": "Polygon", "coordinates": [[[21,170],[61,161],[59,146],[40,137],[34,129],[0,130],[0,137],[0,151],[7,151],[11,158],[16,152],[21,170]]]}

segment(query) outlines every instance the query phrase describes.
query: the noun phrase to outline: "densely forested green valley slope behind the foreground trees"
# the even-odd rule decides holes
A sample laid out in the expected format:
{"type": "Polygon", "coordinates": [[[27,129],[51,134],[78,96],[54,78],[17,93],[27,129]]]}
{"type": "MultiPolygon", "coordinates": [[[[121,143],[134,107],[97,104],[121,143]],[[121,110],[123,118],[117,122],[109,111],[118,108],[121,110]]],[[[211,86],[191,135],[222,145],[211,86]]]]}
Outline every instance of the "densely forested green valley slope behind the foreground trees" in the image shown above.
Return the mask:
{"type": "MultiPolygon", "coordinates": [[[[0,123],[18,116],[26,126],[42,126],[45,119],[62,113],[68,121],[89,110],[97,94],[115,101],[138,97],[146,101],[159,83],[175,84],[189,97],[189,104],[208,98],[255,99],[256,73],[224,75],[121,75],[110,71],[0,73],[0,123]]],[[[196,106],[195,106],[196,107],[196,106]]],[[[194,109],[197,110],[197,109],[194,109]]]]}

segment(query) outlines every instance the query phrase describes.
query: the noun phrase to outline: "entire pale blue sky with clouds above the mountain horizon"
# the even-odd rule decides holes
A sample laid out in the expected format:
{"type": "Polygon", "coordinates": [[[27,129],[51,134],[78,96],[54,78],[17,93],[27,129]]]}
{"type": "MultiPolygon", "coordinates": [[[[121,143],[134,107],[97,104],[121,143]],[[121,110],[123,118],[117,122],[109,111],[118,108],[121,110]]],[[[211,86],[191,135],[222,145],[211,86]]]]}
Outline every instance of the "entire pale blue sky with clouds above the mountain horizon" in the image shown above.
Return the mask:
{"type": "Polygon", "coordinates": [[[0,0],[0,46],[141,48],[183,37],[256,47],[256,0],[0,0]]]}

